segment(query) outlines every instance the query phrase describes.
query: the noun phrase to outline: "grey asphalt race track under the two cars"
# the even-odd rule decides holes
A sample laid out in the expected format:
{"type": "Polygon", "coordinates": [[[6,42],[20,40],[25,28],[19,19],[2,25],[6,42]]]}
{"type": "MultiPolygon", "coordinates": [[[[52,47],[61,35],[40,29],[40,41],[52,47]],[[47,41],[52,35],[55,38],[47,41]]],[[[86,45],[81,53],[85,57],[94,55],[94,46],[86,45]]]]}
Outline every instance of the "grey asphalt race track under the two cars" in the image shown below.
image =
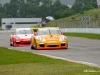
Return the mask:
{"type": "Polygon", "coordinates": [[[0,46],[28,51],[37,54],[56,56],[67,60],[78,61],[100,67],[100,40],[68,37],[69,48],[62,50],[31,50],[27,47],[12,47],[9,44],[10,34],[0,34],[0,46]]]}

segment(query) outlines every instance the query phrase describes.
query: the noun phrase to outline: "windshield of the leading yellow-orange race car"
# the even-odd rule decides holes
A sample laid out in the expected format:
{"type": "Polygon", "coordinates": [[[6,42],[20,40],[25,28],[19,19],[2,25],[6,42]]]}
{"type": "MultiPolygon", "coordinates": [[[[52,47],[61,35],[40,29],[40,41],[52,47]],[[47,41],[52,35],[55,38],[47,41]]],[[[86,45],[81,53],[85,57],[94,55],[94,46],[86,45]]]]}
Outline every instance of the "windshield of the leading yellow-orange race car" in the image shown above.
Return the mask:
{"type": "Polygon", "coordinates": [[[40,29],[38,35],[61,34],[59,29],[40,29]]]}

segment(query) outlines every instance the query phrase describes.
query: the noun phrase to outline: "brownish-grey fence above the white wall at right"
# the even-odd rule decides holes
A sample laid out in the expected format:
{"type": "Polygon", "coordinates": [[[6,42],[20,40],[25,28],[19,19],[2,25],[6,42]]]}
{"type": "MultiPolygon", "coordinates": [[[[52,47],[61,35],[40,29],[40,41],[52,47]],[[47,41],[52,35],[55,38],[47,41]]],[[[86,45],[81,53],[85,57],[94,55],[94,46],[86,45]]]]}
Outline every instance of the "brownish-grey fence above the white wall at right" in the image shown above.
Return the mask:
{"type": "Polygon", "coordinates": [[[89,21],[82,20],[58,20],[56,26],[60,28],[100,28],[100,19],[89,21]]]}

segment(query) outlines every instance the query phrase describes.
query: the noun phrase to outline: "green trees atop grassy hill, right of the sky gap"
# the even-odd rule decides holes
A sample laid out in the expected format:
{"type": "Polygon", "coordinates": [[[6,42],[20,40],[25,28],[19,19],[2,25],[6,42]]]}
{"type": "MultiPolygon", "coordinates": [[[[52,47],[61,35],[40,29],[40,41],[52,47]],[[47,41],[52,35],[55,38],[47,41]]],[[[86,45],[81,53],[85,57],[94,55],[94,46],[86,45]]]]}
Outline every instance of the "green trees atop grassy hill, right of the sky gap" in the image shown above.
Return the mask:
{"type": "Polygon", "coordinates": [[[97,8],[97,0],[75,0],[72,10],[76,13],[97,8]]]}

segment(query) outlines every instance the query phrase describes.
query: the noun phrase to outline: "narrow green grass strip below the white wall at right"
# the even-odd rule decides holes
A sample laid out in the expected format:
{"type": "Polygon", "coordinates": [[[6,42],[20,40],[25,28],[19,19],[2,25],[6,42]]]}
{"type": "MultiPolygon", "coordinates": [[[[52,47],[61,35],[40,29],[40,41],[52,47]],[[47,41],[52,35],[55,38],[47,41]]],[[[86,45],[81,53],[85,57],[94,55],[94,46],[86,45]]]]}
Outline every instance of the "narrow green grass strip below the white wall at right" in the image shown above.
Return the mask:
{"type": "Polygon", "coordinates": [[[100,39],[100,34],[93,33],[65,33],[66,36],[84,37],[89,39],[100,39]]]}

